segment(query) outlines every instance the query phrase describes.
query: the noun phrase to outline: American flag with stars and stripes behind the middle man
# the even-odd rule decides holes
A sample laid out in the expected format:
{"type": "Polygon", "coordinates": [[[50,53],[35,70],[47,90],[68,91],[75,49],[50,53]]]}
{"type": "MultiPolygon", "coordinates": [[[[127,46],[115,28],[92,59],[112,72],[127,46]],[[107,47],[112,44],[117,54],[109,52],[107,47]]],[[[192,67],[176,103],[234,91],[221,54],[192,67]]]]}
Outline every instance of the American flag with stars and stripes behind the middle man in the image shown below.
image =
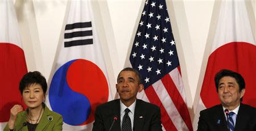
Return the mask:
{"type": "Polygon", "coordinates": [[[193,130],[166,2],[148,0],[130,54],[142,74],[146,101],[161,109],[164,130],[193,130]]]}

